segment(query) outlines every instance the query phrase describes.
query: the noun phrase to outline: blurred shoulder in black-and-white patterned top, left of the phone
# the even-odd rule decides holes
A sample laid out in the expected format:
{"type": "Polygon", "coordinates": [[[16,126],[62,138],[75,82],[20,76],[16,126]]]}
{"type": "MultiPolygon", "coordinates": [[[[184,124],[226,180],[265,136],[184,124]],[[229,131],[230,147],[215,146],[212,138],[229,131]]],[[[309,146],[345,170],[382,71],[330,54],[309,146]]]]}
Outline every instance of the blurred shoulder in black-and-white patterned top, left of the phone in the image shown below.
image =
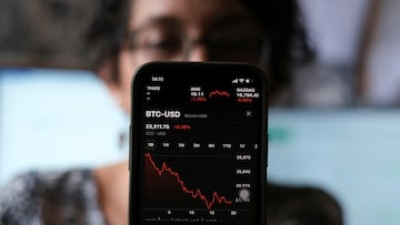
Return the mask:
{"type": "Polygon", "coordinates": [[[29,172],[0,191],[0,218],[4,224],[40,224],[74,216],[71,212],[88,204],[98,207],[91,171],[29,172]]]}

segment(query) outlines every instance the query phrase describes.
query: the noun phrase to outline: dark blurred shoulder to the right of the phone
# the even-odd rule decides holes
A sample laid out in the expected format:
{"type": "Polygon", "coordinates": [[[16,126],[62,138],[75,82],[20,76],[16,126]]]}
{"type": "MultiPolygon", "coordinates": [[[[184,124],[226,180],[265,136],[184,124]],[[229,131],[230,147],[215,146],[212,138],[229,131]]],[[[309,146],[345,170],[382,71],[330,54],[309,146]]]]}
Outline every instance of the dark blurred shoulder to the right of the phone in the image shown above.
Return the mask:
{"type": "MultiPolygon", "coordinates": [[[[328,191],[314,186],[267,186],[268,216],[294,224],[341,225],[342,208],[328,191]]],[[[271,223],[281,224],[281,223],[271,223]]]]}

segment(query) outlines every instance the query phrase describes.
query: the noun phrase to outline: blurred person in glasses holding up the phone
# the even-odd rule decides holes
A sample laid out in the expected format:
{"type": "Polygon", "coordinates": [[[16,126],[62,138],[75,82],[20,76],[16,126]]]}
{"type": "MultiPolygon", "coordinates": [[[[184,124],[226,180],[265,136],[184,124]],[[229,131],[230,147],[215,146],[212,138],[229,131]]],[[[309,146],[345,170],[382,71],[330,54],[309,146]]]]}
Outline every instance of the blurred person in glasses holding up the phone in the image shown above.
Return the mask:
{"type": "MultiPolygon", "coordinates": [[[[127,113],[132,74],[149,61],[256,64],[266,71],[269,99],[276,104],[290,85],[292,64],[310,55],[294,0],[101,0],[99,3],[100,10],[88,33],[93,71],[127,113]]],[[[308,188],[307,195],[297,188],[292,192],[271,184],[267,188],[271,223],[341,224],[340,208],[324,207],[336,206],[337,202],[323,191],[308,188]],[[290,207],[293,204],[299,207],[290,207]],[[311,213],[301,214],[302,205],[309,206],[311,213]],[[328,223],[332,215],[339,218],[328,223]],[[292,219],[299,216],[310,219],[292,219]],[[314,217],[323,219],[311,223],[314,217]]],[[[29,172],[0,191],[0,224],[124,225],[128,195],[128,161],[97,168],[29,172]]]]}

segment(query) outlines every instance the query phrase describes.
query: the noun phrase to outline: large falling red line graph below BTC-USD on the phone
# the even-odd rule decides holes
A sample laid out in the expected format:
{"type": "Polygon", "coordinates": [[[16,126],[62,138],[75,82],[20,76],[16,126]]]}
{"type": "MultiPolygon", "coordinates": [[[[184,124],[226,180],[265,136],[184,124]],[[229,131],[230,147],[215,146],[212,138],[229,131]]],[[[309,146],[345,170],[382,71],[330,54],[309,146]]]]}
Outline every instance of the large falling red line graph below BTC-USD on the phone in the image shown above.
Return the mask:
{"type": "Polygon", "coordinates": [[[182,191],[187,194],[190,194],[192,198],[200,198],[201,201],[204,202],[206,206],[208,209],[211,209],[211,206],[216,203],[219,204],[227,204],[230,205],[232,204],[232,201],[228,201],[224,196],[219,196],[219,194],[217,193],[217,191],[214,191],[212,193],[212,198],[208,200],[199,188],[197,188],[196,191],[193,190],[189,190],[186,185],[184,182],[180,178],[180,175],[174,172],[171,167],[169,167],[166,163],[162,163],[161,168],[158,167],[154,163],[154,161],[152,160],[152,156],[150,153],[144,153],[146,158],[150,162],[150,164],[152,165],[152,167],[154,168],[154,171],[158,173],[159,176],[161,176],[163,173],[169,173],[170,175],[172,175],[173,177],[177,178],[177,182],[180,184],[182,191]]]}

